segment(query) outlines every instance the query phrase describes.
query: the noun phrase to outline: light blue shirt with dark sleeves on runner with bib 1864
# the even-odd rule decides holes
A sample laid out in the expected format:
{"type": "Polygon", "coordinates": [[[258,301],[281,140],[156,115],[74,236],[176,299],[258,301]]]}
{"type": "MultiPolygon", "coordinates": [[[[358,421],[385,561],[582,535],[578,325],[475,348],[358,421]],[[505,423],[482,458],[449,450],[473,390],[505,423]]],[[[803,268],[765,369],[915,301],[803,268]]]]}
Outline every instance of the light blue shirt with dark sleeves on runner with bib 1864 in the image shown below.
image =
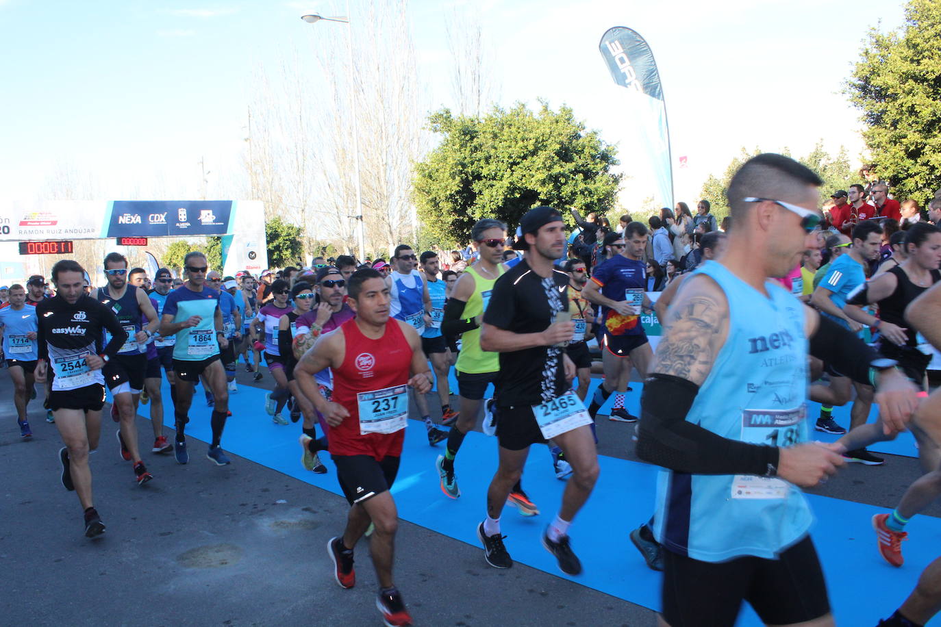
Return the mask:
{"type": "Polygon", "coordinates": [[[173,346],[173,358],[181,361],[203,361],[219,353],[215,337],[215,311],[219,308],[219,292],[202,286],[201,291],[190,290],[183,283],[167,296],[164,315],[182,322],[199,316],[199,324],[180,329],[173,346]]]}

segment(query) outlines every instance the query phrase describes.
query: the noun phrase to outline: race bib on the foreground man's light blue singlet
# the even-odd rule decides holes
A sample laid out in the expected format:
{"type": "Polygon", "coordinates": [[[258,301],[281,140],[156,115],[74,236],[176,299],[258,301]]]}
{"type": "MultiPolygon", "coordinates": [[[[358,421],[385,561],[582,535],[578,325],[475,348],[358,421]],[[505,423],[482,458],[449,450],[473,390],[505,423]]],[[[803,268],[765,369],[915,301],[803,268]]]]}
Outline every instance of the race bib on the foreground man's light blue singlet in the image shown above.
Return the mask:
{"type": "MultiPolygon", "coordinates": [[[[742,442],[771,447],[790,447],[801,441],[800,424],[805,407],[791,410],[742,410],[742,442]]],[[[732,498],[785,498],[790,484],[775,477],[736,475],[732,498]]]]}

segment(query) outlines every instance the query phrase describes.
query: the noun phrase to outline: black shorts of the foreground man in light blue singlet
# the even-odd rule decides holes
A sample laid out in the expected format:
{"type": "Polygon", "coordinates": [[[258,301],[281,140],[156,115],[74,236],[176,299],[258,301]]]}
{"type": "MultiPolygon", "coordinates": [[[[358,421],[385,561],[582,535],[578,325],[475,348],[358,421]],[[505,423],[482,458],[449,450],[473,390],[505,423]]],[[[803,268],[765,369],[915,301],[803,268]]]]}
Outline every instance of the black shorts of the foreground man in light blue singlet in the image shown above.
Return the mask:
{"type": "Polygon", "coordinates": [[[820,559],[809,536],[777,559],[704,562],[663,549],[663,619],[671,627],[734,625],[748,602],[767,625],[830,613],[820,559]]]}

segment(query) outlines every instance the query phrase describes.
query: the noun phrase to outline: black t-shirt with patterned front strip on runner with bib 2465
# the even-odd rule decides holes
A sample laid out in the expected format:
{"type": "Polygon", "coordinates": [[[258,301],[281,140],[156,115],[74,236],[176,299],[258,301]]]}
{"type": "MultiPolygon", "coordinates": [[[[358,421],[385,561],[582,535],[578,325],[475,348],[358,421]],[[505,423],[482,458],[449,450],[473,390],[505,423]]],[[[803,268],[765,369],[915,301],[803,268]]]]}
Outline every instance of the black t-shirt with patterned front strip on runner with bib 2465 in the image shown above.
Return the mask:
{"type": "MultiPolygon", "coordinates": [[[[568,274],[558,270],[543,278],[525,259],[503,273],[493,286],[484,321],[513,333],[539,333],[559,311],[568,310],[568,274]]],[[[498,407],[538,405],[566,392],[564,349],[536,346],[500,353],[498,407]]]]}

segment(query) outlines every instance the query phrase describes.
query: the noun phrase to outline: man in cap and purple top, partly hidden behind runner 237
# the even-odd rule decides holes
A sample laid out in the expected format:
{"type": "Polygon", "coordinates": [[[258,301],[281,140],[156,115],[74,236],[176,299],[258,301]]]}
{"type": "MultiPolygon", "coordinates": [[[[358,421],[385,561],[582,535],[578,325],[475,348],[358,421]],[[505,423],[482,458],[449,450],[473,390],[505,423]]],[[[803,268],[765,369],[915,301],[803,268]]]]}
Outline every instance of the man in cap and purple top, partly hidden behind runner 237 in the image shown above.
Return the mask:
{"type": "MultiPolygon", "coordinates": [[[[326,335],[343,322],[351,320],[355,315],[353,309],[346,305],[346,279],[343,279],[343,274],[337,268],[327,267],[322,269],[317,273],[315,281],[320,304],[308,313],[303,314],[296,321],[297,335],[294,339],[294,355],[295,359],[298,360],[313,346],[318,337],[326,335]]],[[[330,368],[325,368],[314,374],[314,379],[321,396],[331,400],[333,396],[333,376],[330,368]]],[[[307,399],[306,396],[304,398],[307,399]]],[[[310,399],[307,400],[310,401],[310,399]]],[[[311,402],[311,404],[313,403],[311,402]]],[[[314,415],[316,415],[324,435],[318,438],[311,416],[304,415],[304,434],[298,440],[303,450],[301,465],[307,470],[323,474],[327,472],[327,466],[320,462],[318,453],[328,448],[327,420],[316,409],[314,409],[314,415]]]]}

